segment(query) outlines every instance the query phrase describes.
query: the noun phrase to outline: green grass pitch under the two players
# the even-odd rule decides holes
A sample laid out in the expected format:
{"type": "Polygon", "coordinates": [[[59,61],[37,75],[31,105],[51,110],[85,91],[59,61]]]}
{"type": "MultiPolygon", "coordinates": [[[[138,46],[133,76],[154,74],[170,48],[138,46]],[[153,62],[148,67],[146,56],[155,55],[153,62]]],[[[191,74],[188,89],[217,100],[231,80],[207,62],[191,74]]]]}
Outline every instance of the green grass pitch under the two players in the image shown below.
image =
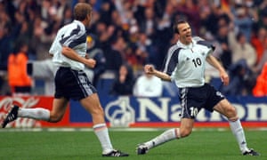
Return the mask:
{"type": "Polygon", "coordinates": [[[138,143],[154,138],[164,130],[124,131],[110,129],[109,135],[115,148],[128,152],[128,157],[101,157],[101,146],[92,130],[74,132],[44,129],[40,132],[0,129],[0,159],[3,160],[84,160],[84,159],[128,159],[128,160],[195,160],[195,159],[267,159],[267,132],[245,130],[247,143],[262,155],[241,156],[238,144],[231,131],[198,129],[190,137],[173,140],[148,154],[138,156],[138,143]]]}

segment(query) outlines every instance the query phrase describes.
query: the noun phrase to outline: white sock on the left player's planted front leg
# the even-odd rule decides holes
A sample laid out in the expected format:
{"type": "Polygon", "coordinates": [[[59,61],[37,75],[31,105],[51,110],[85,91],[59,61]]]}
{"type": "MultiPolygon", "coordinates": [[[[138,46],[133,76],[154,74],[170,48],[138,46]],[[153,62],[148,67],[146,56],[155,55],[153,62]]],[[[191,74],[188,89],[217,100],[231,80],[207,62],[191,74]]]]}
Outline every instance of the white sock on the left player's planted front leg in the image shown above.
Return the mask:
{"type": "Polygon", "coordinates": [[[102,154],[107,154],[113,150],[109,139],[109,131],[106,124],[95,124],[93,125],[93,131],[101,142],[103,149],[102,154]]]}

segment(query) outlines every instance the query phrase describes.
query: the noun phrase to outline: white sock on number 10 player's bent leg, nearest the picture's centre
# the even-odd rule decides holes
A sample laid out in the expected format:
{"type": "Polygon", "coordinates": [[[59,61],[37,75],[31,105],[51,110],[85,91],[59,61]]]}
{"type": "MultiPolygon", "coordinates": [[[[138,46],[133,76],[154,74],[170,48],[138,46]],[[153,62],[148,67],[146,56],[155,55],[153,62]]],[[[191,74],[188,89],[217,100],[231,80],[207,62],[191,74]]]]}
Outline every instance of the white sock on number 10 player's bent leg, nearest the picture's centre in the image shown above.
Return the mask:
{"type": "Polygon", "coordinates": [[[180,136],[180,130],[177,128],[169,129],[166,132],[163,132],[162,134],[158,135],[158,137],[145,142],[144,144],[150,149],[155,148],[158,145],[161,145],[163,143],[166,143],[167,141],[179,139],[180,136]]]}

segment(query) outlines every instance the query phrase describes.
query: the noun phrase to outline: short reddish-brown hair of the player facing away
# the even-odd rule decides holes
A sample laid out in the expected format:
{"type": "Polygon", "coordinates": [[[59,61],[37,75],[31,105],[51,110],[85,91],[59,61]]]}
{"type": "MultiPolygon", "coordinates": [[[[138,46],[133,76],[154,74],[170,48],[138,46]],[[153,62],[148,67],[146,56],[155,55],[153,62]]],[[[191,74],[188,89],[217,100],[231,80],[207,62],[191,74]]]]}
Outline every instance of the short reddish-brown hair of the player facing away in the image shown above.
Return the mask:
{"type": "Polygon", "coordinates": [[[86,3],[77,3],[74,7],[74,19],[85,20],[88,14],[92,13],[92,6],[86,3]]]}

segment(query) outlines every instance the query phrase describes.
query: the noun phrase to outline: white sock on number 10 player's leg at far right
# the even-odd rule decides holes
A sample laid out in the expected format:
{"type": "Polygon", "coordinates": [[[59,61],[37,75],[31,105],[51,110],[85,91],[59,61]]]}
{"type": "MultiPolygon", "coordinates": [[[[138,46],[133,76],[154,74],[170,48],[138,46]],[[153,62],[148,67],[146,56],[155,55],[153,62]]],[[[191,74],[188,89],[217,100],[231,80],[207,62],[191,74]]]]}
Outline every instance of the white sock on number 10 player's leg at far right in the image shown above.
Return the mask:
{"type": "Polygon", "coordinates": [[[245,133],[240,123],[240,120],[238,119],[235,122],[229,121],[229,123],[231,127],[231,132],[236,136],[236,139],[238,140],[239,148],[241,152],[242,153],[245,152],[246,150],[248,150],[247,141],[246,141],[245,133]]]}

